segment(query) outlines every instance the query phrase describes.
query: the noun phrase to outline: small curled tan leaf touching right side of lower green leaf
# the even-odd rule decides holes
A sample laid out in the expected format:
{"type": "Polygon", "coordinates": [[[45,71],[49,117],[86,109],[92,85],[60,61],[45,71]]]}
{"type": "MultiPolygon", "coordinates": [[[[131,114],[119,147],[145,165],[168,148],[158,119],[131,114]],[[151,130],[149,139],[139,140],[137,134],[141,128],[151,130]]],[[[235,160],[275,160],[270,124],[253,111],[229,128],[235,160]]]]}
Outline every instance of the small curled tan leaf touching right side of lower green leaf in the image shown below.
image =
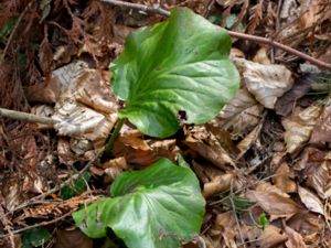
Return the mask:
{"type": "Polygon", "coordinates": [[[233,180],[233,174],[223,174],[215,176],[211,182],[207,182],[203,185],[203,196],[207,198],[213,194],[217,194],[224,191],[227,191],[231,186],[233,180]]]}

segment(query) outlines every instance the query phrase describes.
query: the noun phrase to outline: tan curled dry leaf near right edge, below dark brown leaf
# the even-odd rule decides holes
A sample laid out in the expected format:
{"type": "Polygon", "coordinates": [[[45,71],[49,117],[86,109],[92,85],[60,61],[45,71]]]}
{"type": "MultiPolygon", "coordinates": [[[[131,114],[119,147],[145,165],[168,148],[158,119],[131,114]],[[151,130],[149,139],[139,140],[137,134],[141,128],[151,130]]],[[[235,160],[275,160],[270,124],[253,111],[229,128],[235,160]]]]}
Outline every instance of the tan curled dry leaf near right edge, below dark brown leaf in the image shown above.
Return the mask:
{"type": "Polygon", "coordinates": [[[321,109],[321,106],[314,105],[303,110],[297,107],[290,117],[281,120],[286,130],[284,139],[287,152],[293,153],[310,139],[311,131],[320,116],[321,109]]]}

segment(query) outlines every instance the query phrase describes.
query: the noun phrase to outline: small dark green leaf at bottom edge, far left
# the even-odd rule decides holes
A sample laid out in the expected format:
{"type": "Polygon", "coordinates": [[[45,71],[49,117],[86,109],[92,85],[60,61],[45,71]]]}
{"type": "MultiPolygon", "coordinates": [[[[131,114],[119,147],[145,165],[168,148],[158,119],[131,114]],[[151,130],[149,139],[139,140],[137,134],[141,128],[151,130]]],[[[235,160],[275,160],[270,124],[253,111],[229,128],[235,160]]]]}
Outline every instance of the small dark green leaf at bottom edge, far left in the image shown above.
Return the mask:
{"type": "Polygon", "coordinates": [[[39,247],[49,241],[52,235],[45,228],[34,228],[26,230],[22,238],[22,247],[39,247]]]}

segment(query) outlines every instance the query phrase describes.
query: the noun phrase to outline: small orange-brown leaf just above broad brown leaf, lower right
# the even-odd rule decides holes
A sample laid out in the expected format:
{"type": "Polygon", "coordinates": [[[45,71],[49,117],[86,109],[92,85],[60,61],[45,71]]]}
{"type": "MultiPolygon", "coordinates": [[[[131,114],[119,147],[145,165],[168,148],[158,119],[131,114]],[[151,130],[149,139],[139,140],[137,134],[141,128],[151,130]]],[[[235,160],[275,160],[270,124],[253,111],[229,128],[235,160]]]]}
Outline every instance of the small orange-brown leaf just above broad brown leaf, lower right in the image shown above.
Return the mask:
{"type": "Polygon", "coordinates": [[[276,176],[273,177],[274,184],[285,193],[297,192],[297,184],[292,180],[293,172],[289,169],[287,163],[281,163],[276,171],[276,176]]]}

